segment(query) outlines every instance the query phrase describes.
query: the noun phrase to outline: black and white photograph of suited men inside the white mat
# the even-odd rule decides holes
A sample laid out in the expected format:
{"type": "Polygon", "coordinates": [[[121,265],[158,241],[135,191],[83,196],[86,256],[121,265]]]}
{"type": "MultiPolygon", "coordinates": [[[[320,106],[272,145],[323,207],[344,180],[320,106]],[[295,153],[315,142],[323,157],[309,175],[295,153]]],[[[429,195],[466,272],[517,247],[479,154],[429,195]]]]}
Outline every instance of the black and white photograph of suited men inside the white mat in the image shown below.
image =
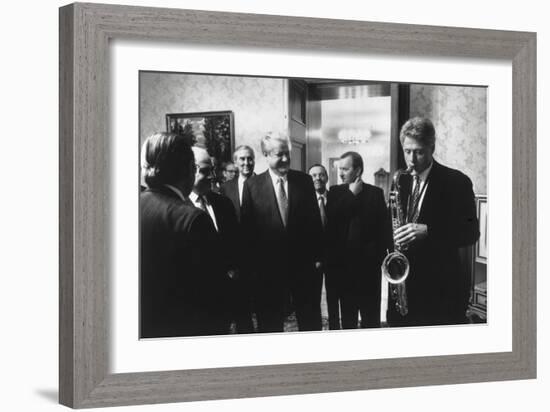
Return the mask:
{"type": "Polygon", "coordinates": [[[486,87],[141,71],[139,119],[141,339],[487,322],[486,87]]]}

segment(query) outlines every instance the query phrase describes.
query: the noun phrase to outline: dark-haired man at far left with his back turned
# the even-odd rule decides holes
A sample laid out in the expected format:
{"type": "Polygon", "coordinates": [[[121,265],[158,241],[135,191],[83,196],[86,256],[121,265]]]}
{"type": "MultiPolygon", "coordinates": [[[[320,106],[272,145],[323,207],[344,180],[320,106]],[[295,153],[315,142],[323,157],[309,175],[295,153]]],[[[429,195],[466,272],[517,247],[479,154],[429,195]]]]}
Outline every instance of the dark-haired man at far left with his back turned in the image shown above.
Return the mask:
{"type": "Polygon", "coordinates": [[[218,333],[222,273],[218,237],[188,199],[194,157],[188,139],[150,136],[142,148],[148,186],[140,194],[140,337],[218,333]]]}

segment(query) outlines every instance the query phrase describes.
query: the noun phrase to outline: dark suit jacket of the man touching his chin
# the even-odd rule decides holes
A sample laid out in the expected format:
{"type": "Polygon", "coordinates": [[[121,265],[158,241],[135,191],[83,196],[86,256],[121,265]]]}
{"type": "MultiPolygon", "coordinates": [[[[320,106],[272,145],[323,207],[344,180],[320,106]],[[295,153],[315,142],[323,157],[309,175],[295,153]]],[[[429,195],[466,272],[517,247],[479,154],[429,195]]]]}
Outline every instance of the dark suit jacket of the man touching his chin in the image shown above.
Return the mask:
{"type": "Polygon", "coordinates": [[[348,275],[355,272],[379,284],[380,265],[391,241],[384,192],[363,183],[357,195],[347,184],[332,186],[328,193],[329,265],[344,265],[348,275]]]}

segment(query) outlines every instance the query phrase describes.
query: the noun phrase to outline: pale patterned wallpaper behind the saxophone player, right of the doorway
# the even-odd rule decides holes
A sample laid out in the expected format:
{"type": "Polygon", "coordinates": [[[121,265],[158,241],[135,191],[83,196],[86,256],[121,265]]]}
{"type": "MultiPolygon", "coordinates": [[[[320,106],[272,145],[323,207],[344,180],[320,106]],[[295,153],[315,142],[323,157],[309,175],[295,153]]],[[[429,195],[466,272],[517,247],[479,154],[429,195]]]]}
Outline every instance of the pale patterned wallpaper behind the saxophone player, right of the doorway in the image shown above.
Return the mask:
{"type": "Polygon", "coordinates": [[[476,194],[487,194],[487,90],[411,85],[410,112],[433,121],[435,159],[468,175],[476,194]]]}

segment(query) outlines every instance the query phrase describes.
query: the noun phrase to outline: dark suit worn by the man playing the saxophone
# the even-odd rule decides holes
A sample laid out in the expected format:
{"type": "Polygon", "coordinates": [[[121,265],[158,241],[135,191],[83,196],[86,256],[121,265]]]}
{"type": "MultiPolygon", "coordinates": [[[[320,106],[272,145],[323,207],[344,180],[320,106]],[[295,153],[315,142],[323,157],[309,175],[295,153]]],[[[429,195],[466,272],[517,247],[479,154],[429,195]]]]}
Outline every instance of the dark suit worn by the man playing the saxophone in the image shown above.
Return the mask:
{"type": "MultiPolygon", "coordinates": [[[[411,177],[403,176],[404,203],[411,187],[411,177]]],[[[460,268],[459,248],[479,238],[468,176],[434,161],[417,222],[427,225],[428,236],[405,253],[411,264],[406,280],[410,318],[417,324],[454,323],[466,311],[471,285],[460,268]]]]}

